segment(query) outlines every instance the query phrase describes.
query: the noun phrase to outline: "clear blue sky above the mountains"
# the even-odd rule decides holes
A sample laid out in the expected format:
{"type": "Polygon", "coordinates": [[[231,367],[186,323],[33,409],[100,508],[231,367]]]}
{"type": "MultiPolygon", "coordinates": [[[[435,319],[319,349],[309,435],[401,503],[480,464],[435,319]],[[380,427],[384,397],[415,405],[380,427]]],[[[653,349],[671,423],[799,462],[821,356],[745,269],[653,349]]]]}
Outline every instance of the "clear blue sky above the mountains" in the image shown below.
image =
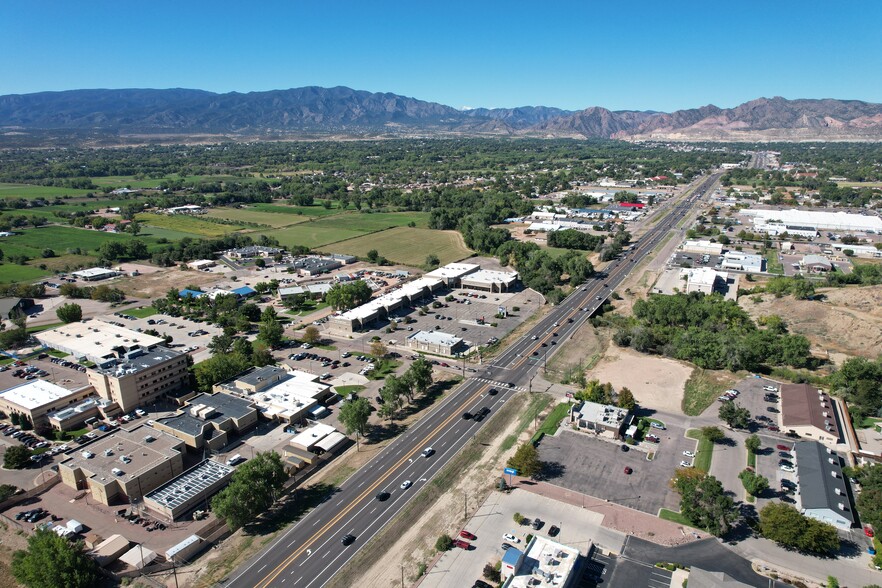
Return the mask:
{"type": "Polygon", "coordinates": [[[2,0],[0,94],[349,86],[461,107],[882,102],[882,2],[2,0]]]}

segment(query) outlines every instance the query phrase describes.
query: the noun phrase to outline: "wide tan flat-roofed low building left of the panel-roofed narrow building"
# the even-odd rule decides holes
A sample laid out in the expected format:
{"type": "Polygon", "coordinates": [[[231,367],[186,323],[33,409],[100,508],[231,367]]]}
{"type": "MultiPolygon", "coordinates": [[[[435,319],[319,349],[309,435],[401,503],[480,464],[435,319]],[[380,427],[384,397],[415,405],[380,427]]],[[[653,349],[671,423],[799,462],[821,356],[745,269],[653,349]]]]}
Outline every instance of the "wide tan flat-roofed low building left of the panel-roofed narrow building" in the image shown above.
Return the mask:
{"type": "Polygon", "coordinates": [[[111,506],[138,500],[184,471],[184,443],[146,425],[83,446],[58,464],[66,486],[111,506]]]}

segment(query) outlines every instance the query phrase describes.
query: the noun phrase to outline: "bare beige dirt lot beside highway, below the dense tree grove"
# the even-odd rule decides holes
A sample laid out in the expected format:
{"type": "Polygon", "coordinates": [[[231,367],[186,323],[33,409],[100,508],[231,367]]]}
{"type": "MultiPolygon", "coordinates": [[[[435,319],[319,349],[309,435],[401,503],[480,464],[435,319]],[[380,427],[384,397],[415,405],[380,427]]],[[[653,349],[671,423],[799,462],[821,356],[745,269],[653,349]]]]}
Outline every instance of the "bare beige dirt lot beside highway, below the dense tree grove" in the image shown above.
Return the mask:
{"type": "Polygon", "coordinates": [[[588,378],[610,382],[617,389],[629,388],[644,408],[679,413],[683,386],[690,375],[692,368],[679,361],[612,344],[597,367],[588,373],[588,378]]]}

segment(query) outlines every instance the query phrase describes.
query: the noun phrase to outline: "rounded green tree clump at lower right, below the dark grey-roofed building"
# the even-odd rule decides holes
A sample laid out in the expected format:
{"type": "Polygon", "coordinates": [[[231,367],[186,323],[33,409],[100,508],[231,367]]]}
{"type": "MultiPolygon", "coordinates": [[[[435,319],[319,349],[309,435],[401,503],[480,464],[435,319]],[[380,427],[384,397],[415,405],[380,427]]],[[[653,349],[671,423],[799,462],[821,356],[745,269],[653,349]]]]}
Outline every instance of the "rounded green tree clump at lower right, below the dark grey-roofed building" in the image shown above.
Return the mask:
{"type": "Polygon", "coordinates": [[[833,555],[839,551],[836,527],[803,516],[783,502],[770,502],[763,507],[760,531],[766,539],[807,553],[833,555]]]}

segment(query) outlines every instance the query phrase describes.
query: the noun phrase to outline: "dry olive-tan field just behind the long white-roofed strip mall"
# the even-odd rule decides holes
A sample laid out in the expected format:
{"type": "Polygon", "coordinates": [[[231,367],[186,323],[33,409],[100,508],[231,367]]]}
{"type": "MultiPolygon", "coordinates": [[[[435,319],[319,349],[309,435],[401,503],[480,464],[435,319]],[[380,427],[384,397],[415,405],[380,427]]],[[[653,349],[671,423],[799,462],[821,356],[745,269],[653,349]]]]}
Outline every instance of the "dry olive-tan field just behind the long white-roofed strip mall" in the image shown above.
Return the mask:
{"type": "Polygon", "coordinates": [[[387,259],[404,265],[421,266],[426,256],[434,253],[442,264],[464,259],[472,254],[455,231],[434,231],[397,227],[334,244],[334,253],[360,257],[376,249],[387,259]]]}

